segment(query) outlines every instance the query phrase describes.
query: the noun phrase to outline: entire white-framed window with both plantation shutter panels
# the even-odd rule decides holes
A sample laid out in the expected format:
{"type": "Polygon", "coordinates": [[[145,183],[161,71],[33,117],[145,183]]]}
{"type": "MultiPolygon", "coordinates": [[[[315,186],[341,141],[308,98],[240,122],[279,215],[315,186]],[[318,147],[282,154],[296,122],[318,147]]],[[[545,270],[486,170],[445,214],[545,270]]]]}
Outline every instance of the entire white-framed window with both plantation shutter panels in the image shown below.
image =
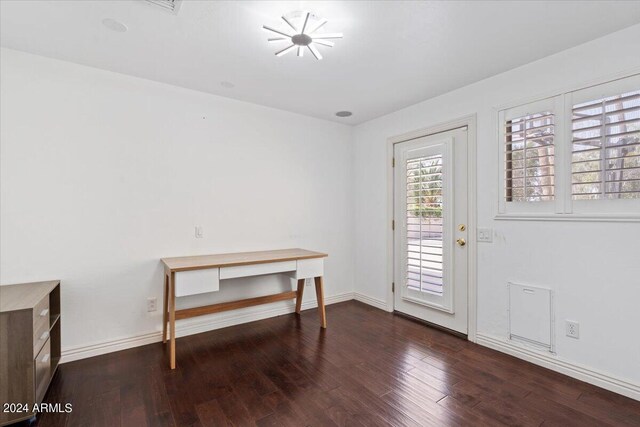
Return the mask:
{"type": "Polygon", "coordinates": [[[640,74],[497,113],[497,219],[640,221],[640,74]]]}

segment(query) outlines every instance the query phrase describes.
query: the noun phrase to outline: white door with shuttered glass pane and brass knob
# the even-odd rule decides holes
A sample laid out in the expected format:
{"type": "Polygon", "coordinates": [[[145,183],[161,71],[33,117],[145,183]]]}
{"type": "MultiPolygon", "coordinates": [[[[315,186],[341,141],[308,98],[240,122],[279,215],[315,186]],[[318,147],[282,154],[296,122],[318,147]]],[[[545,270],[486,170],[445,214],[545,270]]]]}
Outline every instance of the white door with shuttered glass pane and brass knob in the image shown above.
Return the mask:
{"type": "Polygon", "coordinates": [[[467,129],[394,145],[394,308],[467,333],[467,129]]]}

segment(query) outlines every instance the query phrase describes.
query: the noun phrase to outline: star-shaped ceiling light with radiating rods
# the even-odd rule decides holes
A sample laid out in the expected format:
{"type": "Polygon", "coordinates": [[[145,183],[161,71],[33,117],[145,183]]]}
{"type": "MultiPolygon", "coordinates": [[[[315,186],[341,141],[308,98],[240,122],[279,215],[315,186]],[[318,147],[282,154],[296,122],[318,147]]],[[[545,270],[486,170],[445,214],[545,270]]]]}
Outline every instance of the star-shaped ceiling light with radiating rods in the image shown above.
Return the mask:
{"type": "Polygon", "coordinates": [[[290,44],[276,52],[276,56],[282,56],[287,52],[298,49],[298,56],[302,56],[305,47],[308,48],[316,59],[322,59],[322,55],[318,51],[316,45],[333,47],[330,39],[341,39],[342,33],[318,33],[326,23],[326,19],[317,17],[311,12],[292,12],[282,17],[287,24],[284,30],[263,25],[267,31],[277,36],[268,39],[269,42],[279,43],[288,41],[290,44]]]}

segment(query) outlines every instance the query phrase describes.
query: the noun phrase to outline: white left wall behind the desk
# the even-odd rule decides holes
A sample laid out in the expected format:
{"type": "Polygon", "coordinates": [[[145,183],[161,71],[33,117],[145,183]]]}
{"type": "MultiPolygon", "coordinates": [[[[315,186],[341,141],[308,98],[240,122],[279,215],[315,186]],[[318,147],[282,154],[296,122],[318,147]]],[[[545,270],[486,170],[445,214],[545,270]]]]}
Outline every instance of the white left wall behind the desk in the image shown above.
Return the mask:
{"type": "MultiPolygon", "coordinates": [[[[62,280],[63,350],[157,339],[146,299],[161,307],[166,256],[326,251],[328,299],[350,298],[352,128],[12,50],[0,62],[0,282],[62,280]]],[[[199,301],[289,286],[240,279],[199,301]]]]}

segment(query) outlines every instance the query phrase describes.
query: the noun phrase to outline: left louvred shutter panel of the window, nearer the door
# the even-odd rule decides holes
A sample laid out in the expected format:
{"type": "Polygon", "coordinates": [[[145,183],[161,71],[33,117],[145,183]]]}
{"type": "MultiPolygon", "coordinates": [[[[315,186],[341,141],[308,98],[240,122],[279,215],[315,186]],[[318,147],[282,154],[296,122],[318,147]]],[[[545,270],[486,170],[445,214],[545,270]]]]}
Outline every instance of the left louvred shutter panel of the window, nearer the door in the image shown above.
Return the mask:
{"type": "Polygon", "coordinates": [[[505,200],[554,199],[554,114],[541,111],[505,122],[505,200]]]}

